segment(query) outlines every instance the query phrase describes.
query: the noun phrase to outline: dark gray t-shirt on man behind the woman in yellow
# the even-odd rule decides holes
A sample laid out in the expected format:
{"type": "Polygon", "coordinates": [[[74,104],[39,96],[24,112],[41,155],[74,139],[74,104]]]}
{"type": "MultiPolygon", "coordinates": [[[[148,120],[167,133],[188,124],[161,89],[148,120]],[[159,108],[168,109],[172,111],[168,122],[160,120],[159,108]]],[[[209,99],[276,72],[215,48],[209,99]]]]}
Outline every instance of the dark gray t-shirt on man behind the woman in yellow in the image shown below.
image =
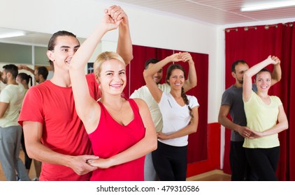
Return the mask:
{"type": "MultiPolygon", "coordinates": [[[[257,86],[252,85],[252,90],[257,91],[257,86]]],[[[245,116],[244,102],[243,102],[243,87],[237,88],[232,85],[227,88],[222,94],[222,105],[229,105],[229,115],[233,123],[241,126],[247,126],[247,119],[245,116]]],[[[244,138],[234,130],[231,130],[231,141],[244,141],[244,138]]]]}

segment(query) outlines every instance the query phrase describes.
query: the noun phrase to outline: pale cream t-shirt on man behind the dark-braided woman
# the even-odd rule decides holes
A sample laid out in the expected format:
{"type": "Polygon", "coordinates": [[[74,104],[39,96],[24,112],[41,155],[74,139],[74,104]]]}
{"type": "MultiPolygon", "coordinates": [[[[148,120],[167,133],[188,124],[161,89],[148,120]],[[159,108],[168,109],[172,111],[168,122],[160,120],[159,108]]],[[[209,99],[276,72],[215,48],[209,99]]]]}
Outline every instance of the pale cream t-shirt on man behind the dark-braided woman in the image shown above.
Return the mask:
{"type": "MultiPolygon", "coordinates": [[[[163,93],[170,92],[171,88],[168,84],[159,84],[158,86],[159,89],[163,91],[163,93]]],[[[152,116],[152,121],[154,122],[154,127],[156,128],[157,132],[160,132],[163,127],[161,111],[157,102],[154,100],[154,98],[152,98],[152,94],[150,94],[147,86],[142,86],[141,88],[138,88],[136,91],[134,91],[134,93],[130,95],[130,98],[140,98],[142,100],[145,100],[148,108],[150,109],[150,114],[152,116]]]]}

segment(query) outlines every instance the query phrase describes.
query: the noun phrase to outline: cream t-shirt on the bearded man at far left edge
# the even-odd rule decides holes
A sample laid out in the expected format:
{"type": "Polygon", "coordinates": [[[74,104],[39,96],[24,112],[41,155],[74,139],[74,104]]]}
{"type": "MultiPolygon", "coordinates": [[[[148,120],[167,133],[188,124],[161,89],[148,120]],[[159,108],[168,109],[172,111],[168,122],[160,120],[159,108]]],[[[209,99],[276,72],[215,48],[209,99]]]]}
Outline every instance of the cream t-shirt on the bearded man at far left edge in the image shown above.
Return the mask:
{"type": "Polygon", "coordinates": [[[0,93],[0,102],[8,103],[8,108],[0,118],[0,127],[17,126],[18,116],[24,99],[24,86],[22,84],[9,84],[0,93]]]}

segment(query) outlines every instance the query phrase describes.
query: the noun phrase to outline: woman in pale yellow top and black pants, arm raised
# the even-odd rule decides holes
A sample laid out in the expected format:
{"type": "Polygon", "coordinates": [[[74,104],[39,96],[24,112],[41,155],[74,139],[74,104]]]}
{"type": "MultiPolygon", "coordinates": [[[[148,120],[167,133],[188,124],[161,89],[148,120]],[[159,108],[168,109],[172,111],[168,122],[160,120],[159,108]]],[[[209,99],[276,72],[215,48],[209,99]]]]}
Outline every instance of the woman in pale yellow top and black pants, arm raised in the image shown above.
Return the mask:
{"type": "Polygon", "coordinates": [[[265,67],[279,63],[276,56],[253,65],[243,76],[243,101],[249,131],[244,132],[247,160],[259,180],[278,180],[275,170],[280,156],[278,133],[288,128],[288,120],[280,98],[268,95],[271,72],[265,67]],[[257,92],[252,91],[255,77],[257,92]]]}

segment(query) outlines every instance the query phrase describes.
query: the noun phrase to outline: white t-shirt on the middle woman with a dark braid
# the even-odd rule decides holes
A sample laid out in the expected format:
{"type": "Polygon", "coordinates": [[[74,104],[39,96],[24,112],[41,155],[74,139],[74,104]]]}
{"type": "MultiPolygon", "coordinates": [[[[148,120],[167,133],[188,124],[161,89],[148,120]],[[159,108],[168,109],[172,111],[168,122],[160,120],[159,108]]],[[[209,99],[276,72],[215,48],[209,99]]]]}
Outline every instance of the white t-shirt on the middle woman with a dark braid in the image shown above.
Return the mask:
{"type": "MultiPolygon", "coordinates": [[[[187,95],[187,99],[189,100],[189,107],[191,109],[199,107],[199,102],[196,97],[187,95]]],[[[164,134],[171,134],[181,130],[183,127],[186,127],[191,120],[187,105],[181,107],[180,104],[178,104],[178,102],[176,102],[173,98],[171,93],[163,93],[159,102],[159,109],[163,118],[162,132],[164,134]]],[[[174,139],[159,139],[159,141],[170,146],[187,146],[187,139],[188,135],[174,139]]]]}

